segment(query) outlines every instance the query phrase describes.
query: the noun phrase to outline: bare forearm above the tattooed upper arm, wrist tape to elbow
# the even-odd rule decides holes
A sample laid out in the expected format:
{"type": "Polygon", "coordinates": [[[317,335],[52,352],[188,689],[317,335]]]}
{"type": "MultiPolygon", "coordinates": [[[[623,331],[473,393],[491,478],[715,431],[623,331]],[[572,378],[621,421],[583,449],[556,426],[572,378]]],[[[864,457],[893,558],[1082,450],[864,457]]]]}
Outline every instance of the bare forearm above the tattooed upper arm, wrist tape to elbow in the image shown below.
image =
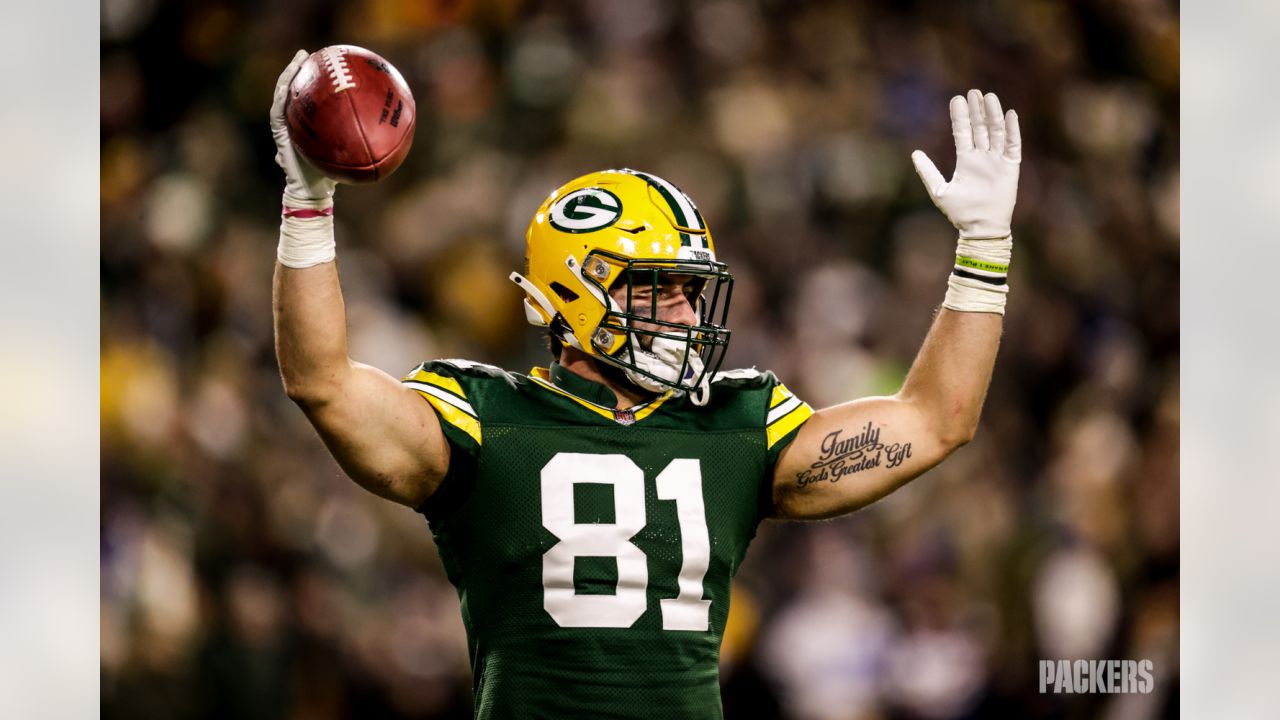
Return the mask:
{"type": "Polygon", "coordinates": [[[945,447],[969,442],[978,429],[1002,320],[995,313],[940,310],[897,393],[945,447]]]}

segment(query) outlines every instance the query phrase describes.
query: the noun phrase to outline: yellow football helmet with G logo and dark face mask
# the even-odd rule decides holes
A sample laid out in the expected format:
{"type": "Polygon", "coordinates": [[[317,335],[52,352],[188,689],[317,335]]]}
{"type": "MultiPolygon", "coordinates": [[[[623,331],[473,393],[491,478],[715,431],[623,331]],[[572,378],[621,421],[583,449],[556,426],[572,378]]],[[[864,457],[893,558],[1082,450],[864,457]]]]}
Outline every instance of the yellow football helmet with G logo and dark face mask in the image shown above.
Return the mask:
{"type": "Polygon", "coordinates": [[[511,279],[527,295],[531,324],[621,368],[643,388],[691,391],[705,404],[728,347],[733,278],[716,260],[710,231],[687,195],[631,169],[582,176],[538,208],[525,242],[525,274],[511,279]],[[632,307],[637,283],[652,283],[657,297],[663,273],[695,279],[696,325],[658,319],[657,302],[632,307]],[[620,282],[627,283],[626,302],[609,295],[620,282]]]}

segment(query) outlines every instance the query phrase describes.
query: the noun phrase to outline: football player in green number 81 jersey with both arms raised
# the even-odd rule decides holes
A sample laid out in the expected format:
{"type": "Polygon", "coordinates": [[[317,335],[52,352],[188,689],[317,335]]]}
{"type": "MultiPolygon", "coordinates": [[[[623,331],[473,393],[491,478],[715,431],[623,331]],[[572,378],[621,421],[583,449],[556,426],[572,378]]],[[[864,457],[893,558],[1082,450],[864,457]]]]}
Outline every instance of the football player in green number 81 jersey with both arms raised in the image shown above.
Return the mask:
{"type": "Polygon", "coordinates": [[[730,582],[767,518],[851,512],[968,442],[996,357],[1021,141],[995,95],[951,100],[956,170],[916,172],[959,229],[901,389],[814,411],[769,372],[717,372],[732,278],[692,200],[639,170],[553,191],[526,233],[529,374],[348,357],[334,183],[284,169],[274,281],[284,388],[357,483],[425,515],[462,601],[477,717],[719,717],[730,582]]]}

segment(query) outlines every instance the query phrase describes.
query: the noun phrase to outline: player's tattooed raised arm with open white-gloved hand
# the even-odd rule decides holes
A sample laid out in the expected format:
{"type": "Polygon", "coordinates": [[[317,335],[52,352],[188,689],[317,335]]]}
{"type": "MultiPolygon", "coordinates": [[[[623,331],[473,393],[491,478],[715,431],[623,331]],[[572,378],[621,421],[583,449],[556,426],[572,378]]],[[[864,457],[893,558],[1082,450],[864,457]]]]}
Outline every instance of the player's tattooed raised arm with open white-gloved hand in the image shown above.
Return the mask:
{"type": "Polygon", "coordinates": [[[951,100],[951,182],[911,155],[934,204],[960,231],[943,307],[902,388],[815,413],[774,468],[778,518],[817,519],[863,507],[969,442],[991,382],[1012,250],[1010,222],[1021,161],[1018,115],[995,95],[951,100]]]}

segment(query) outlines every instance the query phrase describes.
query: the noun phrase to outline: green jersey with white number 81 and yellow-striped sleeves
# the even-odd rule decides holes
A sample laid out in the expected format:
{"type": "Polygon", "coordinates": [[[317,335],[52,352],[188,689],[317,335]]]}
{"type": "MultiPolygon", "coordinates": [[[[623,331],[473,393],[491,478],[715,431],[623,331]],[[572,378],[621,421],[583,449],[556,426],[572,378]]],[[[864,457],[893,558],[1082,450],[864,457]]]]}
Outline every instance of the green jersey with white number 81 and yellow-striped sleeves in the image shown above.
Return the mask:
{"type": "Polygon", "coordinates": [[[755,370],[719,373],[703,407],[622,411],[554,364],[403,382],[452,448],[419,511],[462,601],[476,717],[721,717],[730,583],[813,410],[755,370]]]}

